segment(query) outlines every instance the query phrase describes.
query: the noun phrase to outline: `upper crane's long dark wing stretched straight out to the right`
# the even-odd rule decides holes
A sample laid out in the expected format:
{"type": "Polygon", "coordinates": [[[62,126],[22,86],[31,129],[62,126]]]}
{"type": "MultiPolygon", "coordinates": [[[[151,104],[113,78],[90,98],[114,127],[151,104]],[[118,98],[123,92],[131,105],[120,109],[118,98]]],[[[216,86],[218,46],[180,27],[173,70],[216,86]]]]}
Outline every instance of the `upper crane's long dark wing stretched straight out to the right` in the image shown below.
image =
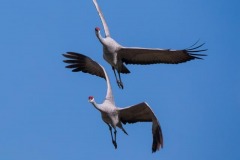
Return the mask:
{"type": "Polygon", "coordinates": [[[206,56],[205,54],[196,54],[207,50],[198,50],[203,45],[204,43],[183,50],[123,47],[118,51],[118,59],[126,64],[178,64],[192,59],[202,59],[202,56],[206,56]]]}

